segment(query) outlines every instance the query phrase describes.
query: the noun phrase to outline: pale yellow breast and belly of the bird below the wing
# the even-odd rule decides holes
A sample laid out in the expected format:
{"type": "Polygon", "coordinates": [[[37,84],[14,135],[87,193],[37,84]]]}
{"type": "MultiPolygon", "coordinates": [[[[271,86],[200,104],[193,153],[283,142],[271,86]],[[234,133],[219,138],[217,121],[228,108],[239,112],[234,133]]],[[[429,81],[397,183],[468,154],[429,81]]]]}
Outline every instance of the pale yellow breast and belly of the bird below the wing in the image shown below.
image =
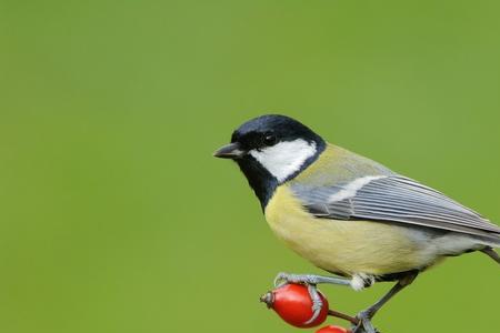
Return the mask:
{"type": "MultiPolygon", "coordinates": [[[[266,208],[276,235],[314,265],[336,273],[388,274],[426,264],[421,244],[394,224],[318,219],[303,210],[284,184],[266,208]]],[[[430,264],[430,263],[429,263],[430,264]]]]}

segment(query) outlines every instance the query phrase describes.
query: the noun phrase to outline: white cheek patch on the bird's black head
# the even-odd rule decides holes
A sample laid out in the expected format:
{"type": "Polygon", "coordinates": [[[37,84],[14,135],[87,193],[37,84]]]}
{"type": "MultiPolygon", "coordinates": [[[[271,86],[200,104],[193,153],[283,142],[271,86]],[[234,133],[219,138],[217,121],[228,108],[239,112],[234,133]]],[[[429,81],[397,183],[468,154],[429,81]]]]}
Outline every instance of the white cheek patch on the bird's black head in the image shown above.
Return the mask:
{"type": "Polygon", "coordinates": [[[262,164],[279,182],[300,170],[307,159],[316,154],[316,143],[303,139],[279,142],[261,150],[251,150],[250,154],[262,164]]]}

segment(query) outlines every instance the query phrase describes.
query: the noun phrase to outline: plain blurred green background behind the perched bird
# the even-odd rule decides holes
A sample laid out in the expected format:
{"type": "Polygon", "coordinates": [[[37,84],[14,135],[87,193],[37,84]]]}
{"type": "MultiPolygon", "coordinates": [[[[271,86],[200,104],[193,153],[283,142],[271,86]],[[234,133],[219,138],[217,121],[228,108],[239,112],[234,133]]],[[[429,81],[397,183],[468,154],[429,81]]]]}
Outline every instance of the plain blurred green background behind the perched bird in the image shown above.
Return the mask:
{"type": "MultiPolygon", "coordinates": [[[[486,0],[0,0],[0,332],[298,332],[258,297],[279,271],[319,271],[211,157],[267,112],[499,221],[499,14],[486,0]]],[[[450,259],[376,324],[498,331],[498,273],[450,259]]],[[[354,314],[389,286],[322,290],[354,314]]]]}

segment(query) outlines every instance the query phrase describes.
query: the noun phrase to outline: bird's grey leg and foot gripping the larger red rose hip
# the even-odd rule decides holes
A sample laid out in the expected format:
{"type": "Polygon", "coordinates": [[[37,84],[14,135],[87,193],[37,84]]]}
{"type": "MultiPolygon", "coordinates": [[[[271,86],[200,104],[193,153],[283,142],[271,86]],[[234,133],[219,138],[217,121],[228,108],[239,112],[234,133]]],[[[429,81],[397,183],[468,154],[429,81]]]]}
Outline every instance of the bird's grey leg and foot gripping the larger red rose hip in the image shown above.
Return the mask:
{"type": "Polygon", "coordinates": [[[274,279],[274,286],[281,286],[288,283],[300,283],[308,286],[309,295],[312,300],[312,316],[306,324],[312,323],[321,312],[323,302],[318,293],[317,285],[320,283],[350,285],[350,280],[333,276],[322,276],[312,274],[288,274],[279,273],[274,279]]]}

